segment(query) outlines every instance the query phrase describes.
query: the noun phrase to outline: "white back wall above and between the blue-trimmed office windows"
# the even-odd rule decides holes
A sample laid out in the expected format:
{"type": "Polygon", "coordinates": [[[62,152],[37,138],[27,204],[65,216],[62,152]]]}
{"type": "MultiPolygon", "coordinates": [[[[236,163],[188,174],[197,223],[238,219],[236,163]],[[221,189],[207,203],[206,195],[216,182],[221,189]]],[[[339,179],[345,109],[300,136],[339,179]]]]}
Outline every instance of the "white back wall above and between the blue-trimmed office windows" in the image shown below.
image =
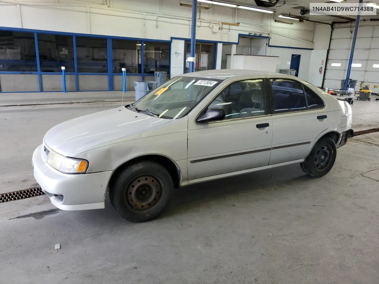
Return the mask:
{"type": "MultiPolygon", "coordinates": [[[[179,3],[177,0],[59,0],[58,3],[56,0],[0,0],[0,26],[158,40],[189,38],[191,8],[179,3]],[[104,4],[106,2],[109,6],[104,4]]],[[[196,23],[197,39],[238,42],[240,34],[255,34],[269,36],[270,45],[298,48],[313,48],[314,45],[315,24],[310,22],[286,25],[274,22],[271,14],[220,6],[198,9],[197,12],[198,19],[201,17],[196,23]],[[240,26],[222,25],[221,22],[239,22],[240,26]],[[212,31],[213,25],[220,28],[218,32],[212,31]]],[[[248,40],[251,46],[252,41],[248,40]]],[[[176,42],[172,51],[181,49],[182,44],[176,42]]],[[[228,45],[224,44],[224,47],[228,48],[228,45]]],[[[180,60],[174,59],[172,51],[171,65],[174,66],[171,66],[171,72],[179,74],[185,55],[180,60]]],[[[280,56],[280,68],[289,68],[287,62],[290,62],[291,55],[301,54],[299,76],[308,80],[312,51],[263,48],[260,45],[257,52],[259,55],[280,56]]],[[[219,53],[224,53],[223,48],[218,48],[219,53]]],[[[216,66],[221,68],[221,62],[216,61],[216,66]]]]}

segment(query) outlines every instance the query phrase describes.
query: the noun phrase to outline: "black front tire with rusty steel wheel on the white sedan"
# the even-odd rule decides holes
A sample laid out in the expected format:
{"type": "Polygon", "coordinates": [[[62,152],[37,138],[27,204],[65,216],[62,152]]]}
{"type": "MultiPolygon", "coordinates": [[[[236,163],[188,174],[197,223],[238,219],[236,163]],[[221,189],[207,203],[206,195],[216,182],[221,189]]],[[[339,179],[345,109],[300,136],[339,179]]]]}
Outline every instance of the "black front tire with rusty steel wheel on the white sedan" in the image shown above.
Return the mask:
{"type": "Polygon", "coordinates": [[[117,214],[130,222],[157,218],[169,205],[174,183],[168,170],[152,161],[140,161],[118,174],[109,198],[117,214]]]}

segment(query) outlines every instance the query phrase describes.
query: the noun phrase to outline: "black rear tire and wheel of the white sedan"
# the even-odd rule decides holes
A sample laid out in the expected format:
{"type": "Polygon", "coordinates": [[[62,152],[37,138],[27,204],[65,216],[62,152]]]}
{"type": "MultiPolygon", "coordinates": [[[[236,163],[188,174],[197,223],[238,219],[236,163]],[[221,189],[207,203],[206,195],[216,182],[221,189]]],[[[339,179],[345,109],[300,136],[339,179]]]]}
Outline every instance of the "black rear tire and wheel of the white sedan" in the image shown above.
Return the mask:
{"type": "Polygon", "coordinates": [[[332,169],[337,158],[337,148],[333,139],[323,137],[310,151],[304,162],[300,164],[301,169],[307,175],[321,178],[332,169]]]}

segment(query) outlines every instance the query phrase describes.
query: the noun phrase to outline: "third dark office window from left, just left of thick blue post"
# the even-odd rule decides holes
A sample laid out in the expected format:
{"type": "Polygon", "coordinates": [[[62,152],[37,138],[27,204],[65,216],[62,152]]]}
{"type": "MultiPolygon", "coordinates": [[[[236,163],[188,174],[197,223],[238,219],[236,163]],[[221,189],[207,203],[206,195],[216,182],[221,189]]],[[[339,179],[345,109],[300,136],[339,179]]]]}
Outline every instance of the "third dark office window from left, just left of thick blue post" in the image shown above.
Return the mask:
{"type": "Polygon", "coordinates": [[[108,55],[105,38],[76,37],[79,73],[108,73],[108,55]]]}

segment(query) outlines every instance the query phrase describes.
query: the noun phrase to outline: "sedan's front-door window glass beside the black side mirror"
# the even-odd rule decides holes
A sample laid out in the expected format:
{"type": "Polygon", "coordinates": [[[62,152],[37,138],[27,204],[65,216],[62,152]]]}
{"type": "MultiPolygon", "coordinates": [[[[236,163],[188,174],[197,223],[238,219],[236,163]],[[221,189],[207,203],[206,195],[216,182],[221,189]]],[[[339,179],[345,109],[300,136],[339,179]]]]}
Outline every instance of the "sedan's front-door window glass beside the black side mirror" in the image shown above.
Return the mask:
{"type": "Polygon", "coordinates": [[[266,93],[263,80],[244,80],[230,84],[212,101],[208,106],[210,108],[223,108],[225,119],[265,115],[266,93]]]}

